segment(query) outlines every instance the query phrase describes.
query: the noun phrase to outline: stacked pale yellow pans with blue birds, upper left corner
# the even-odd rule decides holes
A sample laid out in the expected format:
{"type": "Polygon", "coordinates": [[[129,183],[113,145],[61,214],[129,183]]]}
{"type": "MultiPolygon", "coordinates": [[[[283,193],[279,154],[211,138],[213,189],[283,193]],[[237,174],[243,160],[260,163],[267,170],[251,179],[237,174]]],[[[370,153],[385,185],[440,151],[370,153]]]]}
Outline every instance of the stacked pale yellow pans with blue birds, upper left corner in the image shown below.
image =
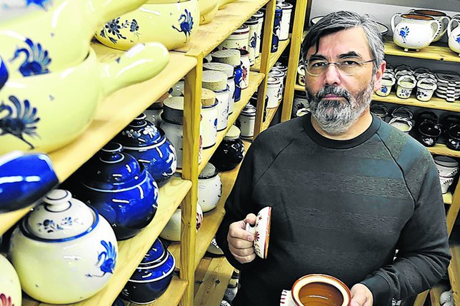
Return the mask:
{"type": "Polygon", "coordinates": [[[0,64],[0,155],[65,146],[89,125],[99,101],[155,76],[169,60],[159,43],[104,64],[90,48],[104,21],[145,0],[6,2],[0,11],[14,17],[0,21],[0,58],[8,58],[0,64]]]}

